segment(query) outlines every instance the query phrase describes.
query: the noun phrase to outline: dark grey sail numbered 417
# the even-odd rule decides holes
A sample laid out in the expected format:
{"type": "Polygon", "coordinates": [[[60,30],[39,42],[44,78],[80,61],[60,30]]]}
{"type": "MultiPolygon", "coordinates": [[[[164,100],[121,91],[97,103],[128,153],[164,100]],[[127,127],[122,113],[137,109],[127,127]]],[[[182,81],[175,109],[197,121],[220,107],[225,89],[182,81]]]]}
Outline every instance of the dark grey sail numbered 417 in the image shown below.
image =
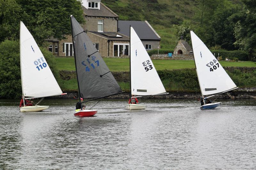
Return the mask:
{"type": "Polygon", "coordinates": [[[122,92],[84,29],[74,16],[70,19],[79,97],[98,98],[122,92]]]}

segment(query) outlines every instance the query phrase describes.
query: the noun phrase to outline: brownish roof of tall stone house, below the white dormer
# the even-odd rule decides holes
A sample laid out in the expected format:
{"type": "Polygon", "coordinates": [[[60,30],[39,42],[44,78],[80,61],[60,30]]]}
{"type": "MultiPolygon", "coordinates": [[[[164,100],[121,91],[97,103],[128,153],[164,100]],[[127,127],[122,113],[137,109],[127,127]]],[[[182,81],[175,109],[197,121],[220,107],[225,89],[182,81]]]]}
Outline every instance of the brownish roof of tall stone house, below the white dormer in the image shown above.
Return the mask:
{"type": "Polygon", "coordinates": [[[92,17],[115,17],[118,18],[115,12],[111,11],[106,5],[100,2],[100,9],[86,9],[82,5],[82,9],[84,11],[85,16],[92,16],[92,17]]]}

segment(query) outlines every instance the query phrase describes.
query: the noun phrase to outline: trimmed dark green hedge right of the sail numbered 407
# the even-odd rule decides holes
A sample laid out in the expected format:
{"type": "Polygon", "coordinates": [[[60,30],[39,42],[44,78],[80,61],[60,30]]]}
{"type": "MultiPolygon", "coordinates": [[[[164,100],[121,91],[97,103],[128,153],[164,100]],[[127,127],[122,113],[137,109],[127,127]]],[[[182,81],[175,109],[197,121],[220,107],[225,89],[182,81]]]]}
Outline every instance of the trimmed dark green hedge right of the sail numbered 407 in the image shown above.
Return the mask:
{"type": "Polygon", "coordinates": [[[226,50],[211,50],[212,54],[215,53],[215,57],[217,58],[218,53],[222,58],[228,58],[228,59],[233,59],[236,57],[240,61],[248,61],[249,54],[246,53],[245,51],[241,50],[234,50],[234,51],[226,51],[226,50]]]}

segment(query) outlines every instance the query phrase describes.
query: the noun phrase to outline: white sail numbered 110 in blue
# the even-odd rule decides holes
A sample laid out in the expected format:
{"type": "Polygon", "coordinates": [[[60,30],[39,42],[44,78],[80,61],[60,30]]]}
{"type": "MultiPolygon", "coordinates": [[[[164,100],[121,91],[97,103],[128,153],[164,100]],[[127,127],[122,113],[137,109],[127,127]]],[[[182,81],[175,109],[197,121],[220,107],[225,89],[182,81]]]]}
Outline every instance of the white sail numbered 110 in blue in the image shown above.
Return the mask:
{"type": "Polygon", "coordinates": [[[44,55],[23,22],[20,22],[20,71],[24,96],[37,98],[62,93],[44,55]]]}

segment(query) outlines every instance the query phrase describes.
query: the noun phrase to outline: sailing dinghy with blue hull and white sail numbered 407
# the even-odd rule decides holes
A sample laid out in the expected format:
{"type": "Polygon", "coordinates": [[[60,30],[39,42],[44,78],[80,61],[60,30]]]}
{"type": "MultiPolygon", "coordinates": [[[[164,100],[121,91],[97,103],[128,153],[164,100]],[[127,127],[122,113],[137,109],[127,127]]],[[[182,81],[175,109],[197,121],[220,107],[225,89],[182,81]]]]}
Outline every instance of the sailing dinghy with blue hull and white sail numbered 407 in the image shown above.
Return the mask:
{"type": "Polygon", "coordinates": [[[201,109],[213,109],[220,106],[220,102],[206,103],[206,100],[215,95],[234,90],[235,83],[193,31],[190,31],[196,74],[200,85],[204,105],[201,109]],[[206,95],[211,95],[205,97],[206,95]]]}

